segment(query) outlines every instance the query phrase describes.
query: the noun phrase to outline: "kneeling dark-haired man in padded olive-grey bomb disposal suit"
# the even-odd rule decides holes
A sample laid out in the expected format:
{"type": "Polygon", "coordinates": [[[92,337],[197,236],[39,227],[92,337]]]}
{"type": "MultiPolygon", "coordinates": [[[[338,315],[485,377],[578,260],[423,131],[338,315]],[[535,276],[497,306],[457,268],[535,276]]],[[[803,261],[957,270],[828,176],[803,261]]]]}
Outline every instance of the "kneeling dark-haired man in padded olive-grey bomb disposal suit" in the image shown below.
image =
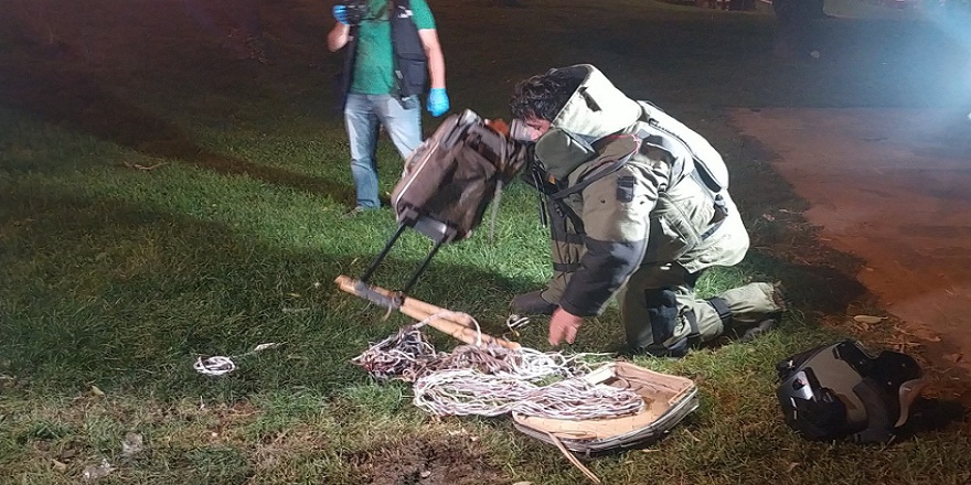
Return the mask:
{"type": "Polygon", "coordinates": [[[533,142],[529,170],[546,194],[555,270],[512,306],[552,314],[549,344],[573,343],[612,297],[634,353],[680,357],[725,333],[748,340],[775,326],[783,306],[773,284],[695,297],[702,271],[739,262],[749,245],[727,169],[702,136],[587,64],[520,82],[510,109],[513,137],[533,142]]]}

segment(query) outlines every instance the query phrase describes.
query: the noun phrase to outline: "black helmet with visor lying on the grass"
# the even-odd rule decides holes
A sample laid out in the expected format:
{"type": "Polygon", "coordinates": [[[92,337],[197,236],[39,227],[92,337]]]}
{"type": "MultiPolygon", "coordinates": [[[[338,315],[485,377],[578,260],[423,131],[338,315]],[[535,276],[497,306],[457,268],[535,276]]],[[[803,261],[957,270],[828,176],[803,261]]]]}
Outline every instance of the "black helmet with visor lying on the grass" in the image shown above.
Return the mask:
{"type": "Polygon", "coordinates": [[[874,358],[850,340],[793,355],[776,369],[786,423],[810,440],[888,443],[925,384],[910,356],[884,351],[874,358]]]}

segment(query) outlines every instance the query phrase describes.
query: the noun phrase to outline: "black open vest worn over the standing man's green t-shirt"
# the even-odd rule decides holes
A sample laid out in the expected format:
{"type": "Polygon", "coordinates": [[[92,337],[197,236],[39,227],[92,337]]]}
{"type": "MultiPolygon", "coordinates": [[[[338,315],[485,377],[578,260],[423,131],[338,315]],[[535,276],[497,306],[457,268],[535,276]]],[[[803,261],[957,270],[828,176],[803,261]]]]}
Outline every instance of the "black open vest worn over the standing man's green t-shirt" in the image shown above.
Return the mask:
{"type": "MultiPolygon", "coordinates": [[[[395,95],[406,98],[420,94],[428,80],[427,57],[425,46],[418,36],[418,26],[412,20],[412,6],[408,0],[388,1],[392,8],[388,14],[391,22],[391,45],[394,53],[395,95]]],[[[354,61],[358,56],[358,26],[351,26],[351,40],[348,42],[344,68],[339,76],[340,99],[338,108],[343,111],[351,90],[354,76],[354,61]]]]}

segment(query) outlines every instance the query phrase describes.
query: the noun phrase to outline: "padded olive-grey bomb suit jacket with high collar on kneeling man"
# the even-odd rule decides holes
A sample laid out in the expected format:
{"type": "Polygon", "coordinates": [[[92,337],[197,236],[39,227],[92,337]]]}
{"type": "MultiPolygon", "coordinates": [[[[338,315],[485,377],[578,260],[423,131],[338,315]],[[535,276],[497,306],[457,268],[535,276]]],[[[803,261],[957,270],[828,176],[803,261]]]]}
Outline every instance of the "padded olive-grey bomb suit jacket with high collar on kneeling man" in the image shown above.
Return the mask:
{"type": "Polygon", "coordinates": [[[567,187],[562,203],[579,223],[566,224],[567,239],[583,240],[559,305],[598,315],[645,265],[697,272],[739,262],[748,233],[718,152],[657,107],[628,98],[596,67],[568,69],[585,80],[535,146],[546,172],[567,187]],[[721,188],[696,176],[700,161],[721,188]]]}

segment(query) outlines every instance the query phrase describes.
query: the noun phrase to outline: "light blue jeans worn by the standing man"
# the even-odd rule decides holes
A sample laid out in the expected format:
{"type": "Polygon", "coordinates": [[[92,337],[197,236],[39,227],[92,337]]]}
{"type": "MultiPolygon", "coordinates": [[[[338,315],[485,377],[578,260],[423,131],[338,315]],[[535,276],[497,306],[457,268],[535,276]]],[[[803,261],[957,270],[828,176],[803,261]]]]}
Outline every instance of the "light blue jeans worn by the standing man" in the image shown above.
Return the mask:
{"type": "Polygon", "coordinates": [[[358,205],[381,206],[377,196],[378,123],[403,159],[422,143],[422,109],[418,97],[397,99],[391,95],[348,95],[344,125],[351,143],[351,176],[358,191],[358,205]]]}

